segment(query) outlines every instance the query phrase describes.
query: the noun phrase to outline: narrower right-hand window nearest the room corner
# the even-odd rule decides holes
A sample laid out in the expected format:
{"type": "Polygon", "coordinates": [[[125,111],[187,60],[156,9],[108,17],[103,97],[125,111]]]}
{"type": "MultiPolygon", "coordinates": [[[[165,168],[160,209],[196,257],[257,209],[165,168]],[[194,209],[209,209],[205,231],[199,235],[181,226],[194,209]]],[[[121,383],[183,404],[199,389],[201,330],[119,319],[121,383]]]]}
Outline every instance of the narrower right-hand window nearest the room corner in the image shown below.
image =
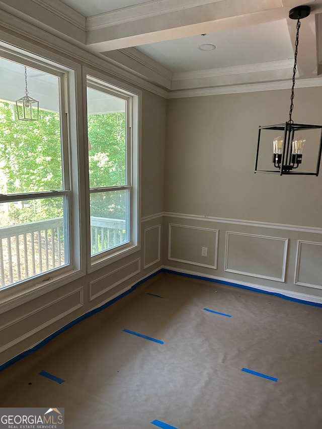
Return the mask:
{"type": "Polygon", "coordinates": [[[88,77],[91,255],[137,246],[137,96],[88,77]]]}

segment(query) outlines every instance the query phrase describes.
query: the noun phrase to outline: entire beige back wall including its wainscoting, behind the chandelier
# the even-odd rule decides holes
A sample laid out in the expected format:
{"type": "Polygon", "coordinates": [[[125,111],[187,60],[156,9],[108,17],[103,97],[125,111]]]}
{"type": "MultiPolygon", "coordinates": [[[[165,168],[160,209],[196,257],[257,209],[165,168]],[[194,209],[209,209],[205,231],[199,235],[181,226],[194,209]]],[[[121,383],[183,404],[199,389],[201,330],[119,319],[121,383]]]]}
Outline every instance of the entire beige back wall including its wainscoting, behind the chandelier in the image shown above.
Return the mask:
{"type": "MultiPolygon", "coordinates": [[[[289,96],[168,100],[167,268],[321,302],[322,175],[254,174],[258,127],[287,121],[289,96]]],[[[321,99],[297,89],[294,122],[320,124],[321,99]]]]}

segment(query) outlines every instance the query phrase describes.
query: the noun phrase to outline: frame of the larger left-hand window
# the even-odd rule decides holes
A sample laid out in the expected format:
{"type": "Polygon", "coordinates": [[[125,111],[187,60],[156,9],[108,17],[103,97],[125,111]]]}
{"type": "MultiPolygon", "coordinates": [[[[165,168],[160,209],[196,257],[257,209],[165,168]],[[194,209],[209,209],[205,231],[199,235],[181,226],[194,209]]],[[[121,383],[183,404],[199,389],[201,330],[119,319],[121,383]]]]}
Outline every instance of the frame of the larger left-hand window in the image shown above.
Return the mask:
{"type": "MultiPolygon", "coordinates": [[[[38,69],[42,72],[58,77],[59,91],[59,115],[60,115],[60,143],[62,156],[62,189],[55,191],[26,192],[20,194],[0,195],[0,202],[25,201],[38,198],[62,197],[63,205],[66,206],[64,213],[65,248],[68,248],[68,261],[64,265],[20,280],[11,285],[0,287],[3,302],[20,298],[21,302],[28,300],[28,296],[42,295],[49,290],[56,289],[61,285],[76,280],[85,275],[84,258],[82,251],[75,252],[78,243],[81,242],[81,228],[79,220],[74,222],[73,217],[79,219],[80,201],[75,195],[78,193],[78,148],[75,145],[76,138],[71,139],[71,128],[75,130],[76,121],[76,70],[75,67],[61,65],[41,55],[34,54],[25,49],[0,43],[0,56],[4,59],[14,61],[27,67],[38,69]],[[73,144],[71,143],[73,140],[73,144]],[[76,161],[74,160],[76,158],[76,161]],[[76,188],[77,187],[77,191],[76,188]],[[74,192],[76,191],[76,192],[74,192]],[[13,295],[14,294],[14,295],[13,295]],[[17,295],[18,294],[18,295],[17,295]],[[23,294],[23,295],[21,295],[23,294]]],[[[78,67],[80,68],[80,67],[78,67]]],[[[79,73],[80,74],[80,73],[79,73]]]]}

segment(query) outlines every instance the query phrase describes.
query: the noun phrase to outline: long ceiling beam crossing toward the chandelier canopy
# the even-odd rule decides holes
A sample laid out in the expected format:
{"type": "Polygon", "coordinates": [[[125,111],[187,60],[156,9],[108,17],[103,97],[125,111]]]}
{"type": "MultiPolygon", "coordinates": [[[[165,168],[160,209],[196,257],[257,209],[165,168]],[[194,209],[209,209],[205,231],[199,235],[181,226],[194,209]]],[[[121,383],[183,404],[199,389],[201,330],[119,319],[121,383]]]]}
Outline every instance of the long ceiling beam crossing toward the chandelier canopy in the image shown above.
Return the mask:
{"type": "Polygon", "coordinates": [[[146,18],[138,15],[137,19],[132,16],[123,22],[109,21],[92,30],[88,27],[86,44],[92,51],[106,52],[270,22],[287,16],[288,8],[283,7],[281,0],[222,0],[146,18]]]}

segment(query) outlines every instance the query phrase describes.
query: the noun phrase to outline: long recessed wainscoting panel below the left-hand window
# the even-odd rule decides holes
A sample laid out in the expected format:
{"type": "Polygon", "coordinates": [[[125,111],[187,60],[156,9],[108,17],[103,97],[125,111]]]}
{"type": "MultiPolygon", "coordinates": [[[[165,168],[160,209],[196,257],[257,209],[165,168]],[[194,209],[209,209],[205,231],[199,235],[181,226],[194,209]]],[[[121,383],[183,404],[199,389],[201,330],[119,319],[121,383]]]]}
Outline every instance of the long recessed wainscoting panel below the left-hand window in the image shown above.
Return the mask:
{"type": "Polygon", "coordinates": [[[0,327],[0,353],[81,308],[83,302],[83,288],[78,288],[3,324],[0,327]],[[7,342],[8,338],[15,339],[7,342]]]}

